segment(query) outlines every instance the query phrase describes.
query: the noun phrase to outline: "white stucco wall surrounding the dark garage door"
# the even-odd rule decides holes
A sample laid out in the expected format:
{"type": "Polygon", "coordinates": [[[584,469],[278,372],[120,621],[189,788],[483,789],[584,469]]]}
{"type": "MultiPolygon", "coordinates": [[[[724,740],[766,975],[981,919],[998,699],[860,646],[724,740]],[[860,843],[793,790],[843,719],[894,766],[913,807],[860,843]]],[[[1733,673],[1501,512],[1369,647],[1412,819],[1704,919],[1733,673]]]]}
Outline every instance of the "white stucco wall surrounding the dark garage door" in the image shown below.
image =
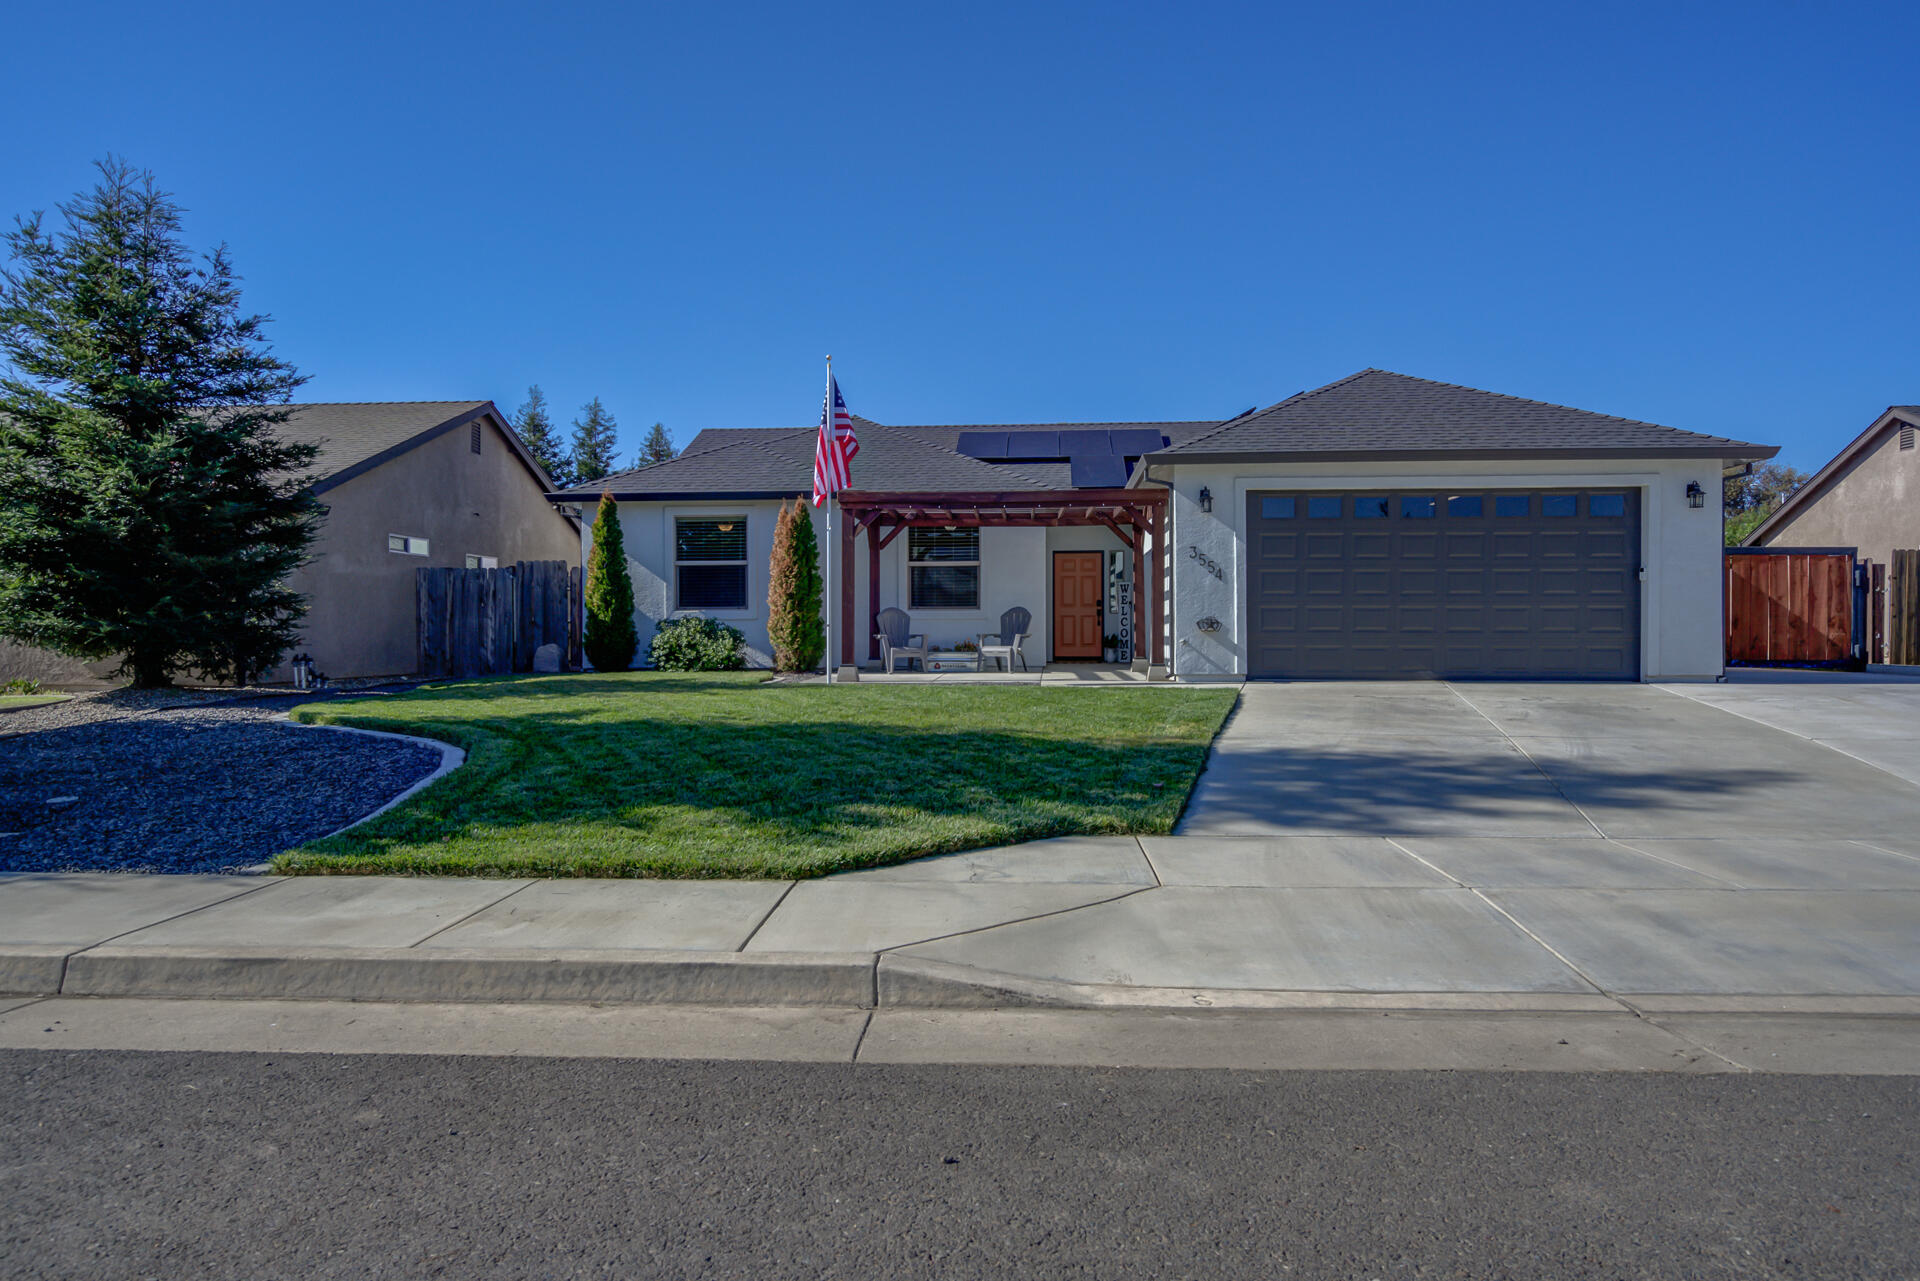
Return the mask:
{"type": "Polygon", "coordinates": [[[1254,490],[1363,488],[1638,488],[1642,680],[1713,680],[1724,670],[1720,465],[1715,459],[1555,459],[1517,463],[1235,463],[1154,467],[1173,482],[1173,609],[1169,649],[1175,678],[1246,672],[1246,495],[1254,490]],[[1707,505],[1686,505],[1688,482],[1707,505]],[[1213,511],[1200,511],[1200,490],[1213,511]],[[1219,567],[1215,578],[1206,561],[1219,567]],[[1202,618],[1219,618],[1202,632],[1202,618]]]}

